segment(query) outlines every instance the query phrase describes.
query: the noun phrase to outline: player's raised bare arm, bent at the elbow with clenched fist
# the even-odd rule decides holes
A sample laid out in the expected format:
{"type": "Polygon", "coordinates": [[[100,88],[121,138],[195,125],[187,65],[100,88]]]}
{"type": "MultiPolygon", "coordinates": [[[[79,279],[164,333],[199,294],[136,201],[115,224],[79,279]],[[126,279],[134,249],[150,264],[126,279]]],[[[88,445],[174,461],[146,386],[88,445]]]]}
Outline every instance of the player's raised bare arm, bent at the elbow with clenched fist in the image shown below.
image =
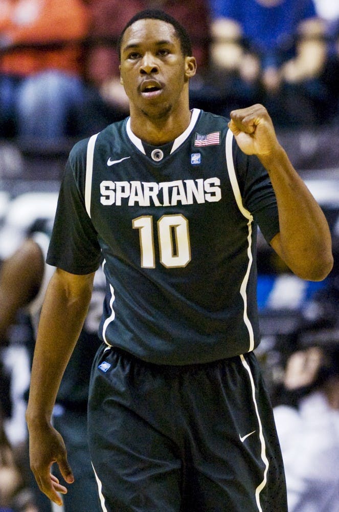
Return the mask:
{"type": "Polygon", "coordinates": [[[333,266],[331,235],[322,209],[279,144],[272,120],[262,105],[231,112],[230,130],[240,149],[257,155],[277,197],[280,232],[270,242],[288,267],[302,279],[323,280],[333,266]]]}

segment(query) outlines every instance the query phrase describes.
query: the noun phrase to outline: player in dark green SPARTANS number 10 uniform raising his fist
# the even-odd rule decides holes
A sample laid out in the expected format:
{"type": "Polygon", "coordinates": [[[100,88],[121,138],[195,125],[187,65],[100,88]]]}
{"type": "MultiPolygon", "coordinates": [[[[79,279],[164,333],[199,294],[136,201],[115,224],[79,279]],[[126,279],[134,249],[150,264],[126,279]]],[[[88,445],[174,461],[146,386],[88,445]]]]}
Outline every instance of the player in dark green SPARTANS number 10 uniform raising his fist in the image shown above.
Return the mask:
{"type": "Polygon", "coordinates": [[[88,405],[103,510],[287,510],[259,343],[256,228],[291,270],[322,280],[325,217],[262,105],[231,120],[189,109],[196,61],[159,11],[120,39],[130,117],[73,148],[48,262],[27,422],[31,467],[60,504],[74,481],[51,425],[104,258],[107,293],[88,405]]]}

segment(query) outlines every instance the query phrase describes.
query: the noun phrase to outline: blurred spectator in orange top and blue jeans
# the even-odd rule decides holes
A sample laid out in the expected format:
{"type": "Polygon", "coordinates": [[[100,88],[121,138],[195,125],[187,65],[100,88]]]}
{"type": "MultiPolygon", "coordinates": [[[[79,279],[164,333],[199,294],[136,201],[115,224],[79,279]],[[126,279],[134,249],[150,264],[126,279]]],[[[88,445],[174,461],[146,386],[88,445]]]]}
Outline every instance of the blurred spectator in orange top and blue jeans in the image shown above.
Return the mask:
{"type": "Polygon", "coordinates": [[[82,0],[1,0],[0,136],[60,142],[79,130],[82,0]]]}

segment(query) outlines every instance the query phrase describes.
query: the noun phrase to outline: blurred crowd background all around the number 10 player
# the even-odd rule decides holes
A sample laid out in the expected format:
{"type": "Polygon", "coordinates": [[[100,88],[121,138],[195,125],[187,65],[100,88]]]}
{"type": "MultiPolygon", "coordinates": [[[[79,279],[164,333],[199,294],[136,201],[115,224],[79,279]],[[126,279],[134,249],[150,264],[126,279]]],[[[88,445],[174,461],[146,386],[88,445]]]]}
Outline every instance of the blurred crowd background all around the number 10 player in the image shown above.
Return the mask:
{"type": "MultiPolygon", "coordinates": [[[[259,236],[257,356],[275,408],[290,512],[339,512],[334,0],[0,0],[0,512],[53,510],[32,480],[24,419],[36,315],[51,271],[43,258],[70,148],[128,115],[115,45],[129,18],[145,8],[173,15],[191,36],[198,62],[192,108],[228,117],[263,103],[328,219],[334,267],[320,283],[292,275],[259,236]]],[[[98,274],[86,332],[54,411],[79,482],[65,512],[101,509],[85,414],[103,287],[98,274]]]]}

